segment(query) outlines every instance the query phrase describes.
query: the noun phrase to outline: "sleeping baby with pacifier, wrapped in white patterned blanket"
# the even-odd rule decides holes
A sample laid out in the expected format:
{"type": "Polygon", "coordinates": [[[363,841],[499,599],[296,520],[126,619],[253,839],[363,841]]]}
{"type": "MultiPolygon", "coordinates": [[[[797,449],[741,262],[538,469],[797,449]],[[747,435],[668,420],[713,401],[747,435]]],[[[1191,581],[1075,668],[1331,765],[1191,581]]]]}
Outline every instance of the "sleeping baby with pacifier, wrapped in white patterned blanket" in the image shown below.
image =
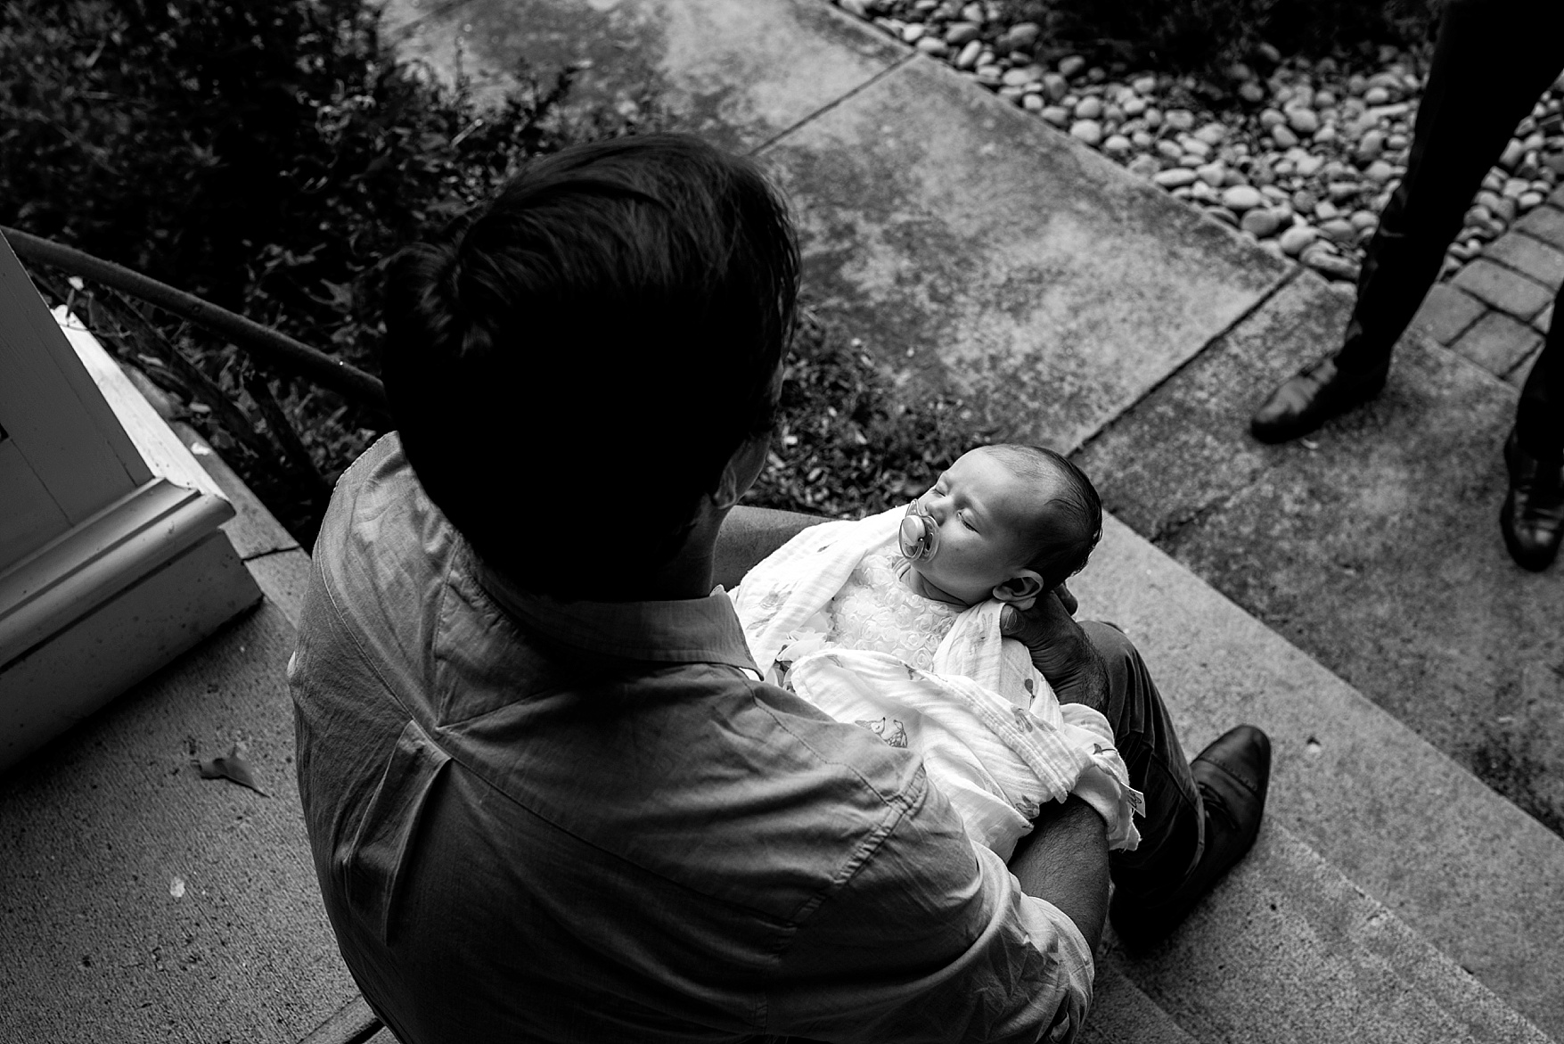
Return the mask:
{"type": "Polygon", "coordinates": [[[1134,847],[1112,729],[1060,707],[1006,604],[1085,565],[1103,531],[1090,481],[1035,446],[963,454],[906,509],[804,531],[734,592],[755,662],[832,717],[923,754],[968,833],[1009,856],[1042,801],[1079,794],[1134,847]]]}

